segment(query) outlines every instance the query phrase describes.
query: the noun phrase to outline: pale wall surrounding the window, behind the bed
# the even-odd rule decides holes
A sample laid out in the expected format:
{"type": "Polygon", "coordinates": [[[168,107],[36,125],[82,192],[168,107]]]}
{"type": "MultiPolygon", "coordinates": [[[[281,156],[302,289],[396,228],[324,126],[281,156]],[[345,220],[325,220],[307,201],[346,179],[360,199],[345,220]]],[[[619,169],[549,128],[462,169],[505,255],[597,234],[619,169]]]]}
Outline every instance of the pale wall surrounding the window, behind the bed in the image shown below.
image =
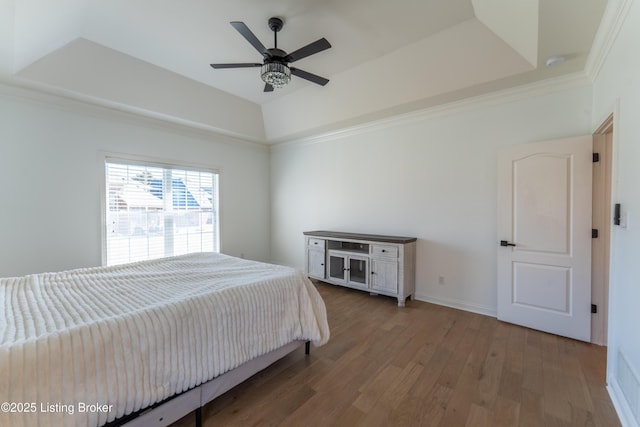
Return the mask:
{"type": "Polygon", "coordinates": [[[222,251],[268,260],[266,148],[0,85],[0,277],[100,265],[101,151],[218,169],[222,251]]]}

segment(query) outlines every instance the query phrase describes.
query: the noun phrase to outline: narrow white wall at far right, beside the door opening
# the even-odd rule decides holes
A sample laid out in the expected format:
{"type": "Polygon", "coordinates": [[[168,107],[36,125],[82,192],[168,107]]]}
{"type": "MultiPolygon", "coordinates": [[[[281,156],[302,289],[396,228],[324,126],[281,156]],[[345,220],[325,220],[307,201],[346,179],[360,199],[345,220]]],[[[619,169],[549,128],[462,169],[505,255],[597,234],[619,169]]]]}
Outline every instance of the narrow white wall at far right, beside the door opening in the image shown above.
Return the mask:
{"type": "MultiPolygon", "coordinates": [[[[614,227],[612,234],[607,365],[608,383],[623,416],[629,408],[624,406],[626,398],[618,378],[620,355],[640,379],[640,4],[630,3],[624,26],[593,86],[594,129],[617,109],[613,202],[621,203],[629,216],[628,228],[614,227]]],[[[640,393],[640,387],[636,390],[640,393]]],[[[626,413],[627,425],[640,424],[640,394],[635,400],[632,406],[637,412],[635,416],[626,413]]]]}

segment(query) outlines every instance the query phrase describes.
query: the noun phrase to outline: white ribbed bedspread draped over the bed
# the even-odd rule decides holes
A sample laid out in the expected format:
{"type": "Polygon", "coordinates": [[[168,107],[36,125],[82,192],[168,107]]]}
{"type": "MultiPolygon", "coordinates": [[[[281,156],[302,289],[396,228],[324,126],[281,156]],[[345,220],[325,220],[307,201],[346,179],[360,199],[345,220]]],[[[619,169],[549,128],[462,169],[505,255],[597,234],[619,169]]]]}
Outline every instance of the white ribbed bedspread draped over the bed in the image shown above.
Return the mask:
{"type": "Polygon", "coordinates": [[[221,254],[0,279],[0,426],[101,425],[328,338],[301,272],[221,254]]]}

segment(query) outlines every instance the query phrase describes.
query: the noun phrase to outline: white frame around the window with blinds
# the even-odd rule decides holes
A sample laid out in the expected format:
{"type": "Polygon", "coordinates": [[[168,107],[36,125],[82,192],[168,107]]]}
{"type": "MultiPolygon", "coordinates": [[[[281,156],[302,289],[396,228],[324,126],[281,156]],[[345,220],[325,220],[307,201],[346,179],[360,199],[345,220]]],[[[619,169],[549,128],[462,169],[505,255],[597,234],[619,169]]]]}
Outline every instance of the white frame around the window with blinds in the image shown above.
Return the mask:
{"type": "MultiPolygon", "coordinates": [[[[221,196],[221,180],[222,174],[219,168],[211,167],[210,165],[197,164],[186,161],[172,161],[161,159],[158,157],[139,156],[132,154],[113,153],[113,152],[100,152],[100,235],[101,235],[101,262],[103,266],[107,266],[107,209],[109,204],[107,201],[107,163],[117,163],[130,166],[148,166],[163,169],[178,169],[183,171],[205,172],[216,175],[217,181],[217,197],[213,199],[213,212],[217,213],[217,221],[215,221],[214,235],[216,238],[217,251],[221,251],[221,235],[220,235],[220,223],[222,221],[222,213],[220,211],[221,196]]],[[[117,264],[113,264],[117,265],[117,264]]]]}

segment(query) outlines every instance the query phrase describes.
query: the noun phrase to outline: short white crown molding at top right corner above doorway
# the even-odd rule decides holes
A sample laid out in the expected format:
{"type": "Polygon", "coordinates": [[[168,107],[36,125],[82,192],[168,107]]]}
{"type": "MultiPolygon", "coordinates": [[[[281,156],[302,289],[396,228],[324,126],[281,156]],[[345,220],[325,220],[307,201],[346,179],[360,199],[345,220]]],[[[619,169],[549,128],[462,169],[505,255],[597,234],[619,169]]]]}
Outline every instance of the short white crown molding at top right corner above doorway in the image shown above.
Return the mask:
{"type": "Polygon", "coordinates": [[[585,74],[592,82],[598,77],[632,4],[633,0],[609,0],[607,2],[584,68],[585,74]]]}

